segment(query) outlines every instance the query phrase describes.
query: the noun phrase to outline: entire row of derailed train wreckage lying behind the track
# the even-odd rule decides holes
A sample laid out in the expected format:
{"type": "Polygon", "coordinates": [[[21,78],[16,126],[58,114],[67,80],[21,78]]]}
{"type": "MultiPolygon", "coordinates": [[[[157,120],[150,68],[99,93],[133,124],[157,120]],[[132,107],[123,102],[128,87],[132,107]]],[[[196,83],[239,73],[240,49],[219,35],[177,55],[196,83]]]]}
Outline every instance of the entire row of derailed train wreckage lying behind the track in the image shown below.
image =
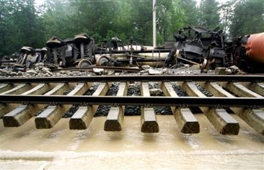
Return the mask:
{"type": "Polygon", "coordinates": [[[245,72],[264,71],[264,33],[241,36],[227,42],[219,27],[208,30],[185,26],[179,29],[174,38],[173,42],[153,48],[138,45],[133,40],[124,45],[118,38],[102,41],[98,46],[85,33],[65,40],[52,37],[42,49],[22,47],[13,68],[23,70],[39,62],[52,67],[81,68],[146,62],[171,66],[176,61],[182,61],[198,64],[202,70],[237,65],[245,72]]]}

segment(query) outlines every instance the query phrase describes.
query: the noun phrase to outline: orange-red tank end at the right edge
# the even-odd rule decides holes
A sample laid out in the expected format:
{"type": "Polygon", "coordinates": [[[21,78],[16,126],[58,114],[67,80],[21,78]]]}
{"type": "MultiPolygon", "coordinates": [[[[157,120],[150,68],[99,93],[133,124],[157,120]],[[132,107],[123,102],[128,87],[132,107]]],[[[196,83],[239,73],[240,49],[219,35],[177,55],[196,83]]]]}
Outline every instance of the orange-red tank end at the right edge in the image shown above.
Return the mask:
{"type": "Polygon", "coordinates": [[[251,34],[244,47],[247,59],[264,63],[264,32],[251,34]]]}

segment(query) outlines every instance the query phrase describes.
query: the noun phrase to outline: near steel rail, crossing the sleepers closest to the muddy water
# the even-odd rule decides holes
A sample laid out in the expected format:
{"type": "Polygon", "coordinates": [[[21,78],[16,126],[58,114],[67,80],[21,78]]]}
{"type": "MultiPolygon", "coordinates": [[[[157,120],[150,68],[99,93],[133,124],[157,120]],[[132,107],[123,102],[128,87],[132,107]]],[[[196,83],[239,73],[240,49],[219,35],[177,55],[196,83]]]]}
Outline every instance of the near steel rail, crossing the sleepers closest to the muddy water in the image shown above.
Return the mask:
{"type": "Polygon", "coordinates": [[[264,98],[199,98],[89,95],[0,95],[0,103],[55,105],[166,105],[178,107],[264,107],[264,98]]]}

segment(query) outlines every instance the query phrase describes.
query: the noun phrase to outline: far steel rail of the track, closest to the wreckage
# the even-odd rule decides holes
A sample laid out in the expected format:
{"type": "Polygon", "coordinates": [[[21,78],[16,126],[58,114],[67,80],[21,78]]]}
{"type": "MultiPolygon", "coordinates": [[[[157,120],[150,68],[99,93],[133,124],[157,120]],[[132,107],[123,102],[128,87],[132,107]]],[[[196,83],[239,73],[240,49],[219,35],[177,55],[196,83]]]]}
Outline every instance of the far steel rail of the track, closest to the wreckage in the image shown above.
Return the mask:
{"type": "Polygon", "coordinates": [[[0,84],[65,82],[264,82],[263,75],[128,75],[0,78],[0,84]]]}

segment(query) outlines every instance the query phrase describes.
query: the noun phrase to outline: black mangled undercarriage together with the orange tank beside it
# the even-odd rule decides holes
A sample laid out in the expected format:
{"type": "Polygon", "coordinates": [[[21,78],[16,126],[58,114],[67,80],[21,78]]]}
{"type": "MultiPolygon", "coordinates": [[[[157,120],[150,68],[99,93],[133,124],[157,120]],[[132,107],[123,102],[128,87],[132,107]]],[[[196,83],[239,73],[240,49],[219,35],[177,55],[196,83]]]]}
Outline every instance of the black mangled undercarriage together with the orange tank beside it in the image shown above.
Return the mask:
{"type": "Polygon", "coordinates": [[[166,65],[176,59],[201,63],[201,68],[237,65],[245,72],[264,71],[264,33],[255,33],[227,42],[219,27],[210,31],[186,26],[174,36],[176,42],[168,54],[166,65]]]}

